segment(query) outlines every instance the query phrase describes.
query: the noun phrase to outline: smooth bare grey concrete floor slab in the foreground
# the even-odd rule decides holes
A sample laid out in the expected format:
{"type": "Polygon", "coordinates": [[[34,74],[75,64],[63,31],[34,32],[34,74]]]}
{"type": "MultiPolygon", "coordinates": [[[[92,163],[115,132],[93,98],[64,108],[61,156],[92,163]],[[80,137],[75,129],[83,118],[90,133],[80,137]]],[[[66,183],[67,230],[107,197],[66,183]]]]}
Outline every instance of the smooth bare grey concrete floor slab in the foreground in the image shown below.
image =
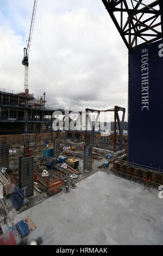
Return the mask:
{"type": "Polygon", "coordinates": [[[15,216],[29,216],[44,245],[162,245],[163,199],[158,191],[97,172],[15,216]]]}

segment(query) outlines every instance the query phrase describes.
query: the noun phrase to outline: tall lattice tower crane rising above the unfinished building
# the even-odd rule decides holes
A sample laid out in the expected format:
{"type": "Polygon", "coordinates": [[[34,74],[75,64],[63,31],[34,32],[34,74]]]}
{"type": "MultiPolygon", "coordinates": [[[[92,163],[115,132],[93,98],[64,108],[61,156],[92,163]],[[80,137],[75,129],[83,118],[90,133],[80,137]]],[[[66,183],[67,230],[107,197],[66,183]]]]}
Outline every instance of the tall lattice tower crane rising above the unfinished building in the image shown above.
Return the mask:
{"type": "Polygon", "coordinates": [[[32,41],[32,34],[33,34],[33,27],[34,27],[34,22],[35,22],[36,8],[37,8],[37,0],[34,0],[32,20],[31,20],[30,29],[29,29],[29,37],[28,37],[27,45],[26,45],[26,47],[24,47],[24,57],[23,57],[23,60],[22,60],[22,65],[24,65],[24,93],[25,93],[25,95],[28,95],[29,51],[30,51],[30,44],[31,44],[31,41],[32,41]]]}

